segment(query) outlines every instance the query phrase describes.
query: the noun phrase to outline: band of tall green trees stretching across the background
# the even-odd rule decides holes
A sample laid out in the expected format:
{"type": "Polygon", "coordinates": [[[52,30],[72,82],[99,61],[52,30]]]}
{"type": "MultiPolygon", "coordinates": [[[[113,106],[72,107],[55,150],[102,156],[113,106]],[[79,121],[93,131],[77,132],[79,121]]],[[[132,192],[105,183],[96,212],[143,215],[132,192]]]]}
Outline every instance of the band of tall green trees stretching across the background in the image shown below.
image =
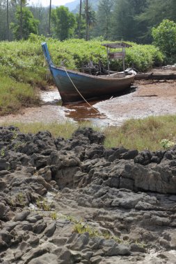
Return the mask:
{"type": "MultiPolygon", "coordinates": [[[[81,13],[80,5],[73,13],[65,6],[51,6],[51,34],[54,38],[100,37],[147,44],[153,41],[152,28],[159,26],[163,19],[176,22],[175,0],[80,0],[79,3],[81,13]]],[[[41,4],[29,6],[26,0],[0,0],[0,40],[19,39],[19,26],[23,38],[28,38],[29,32],[47,36],[49,7],[41,4]]]]}

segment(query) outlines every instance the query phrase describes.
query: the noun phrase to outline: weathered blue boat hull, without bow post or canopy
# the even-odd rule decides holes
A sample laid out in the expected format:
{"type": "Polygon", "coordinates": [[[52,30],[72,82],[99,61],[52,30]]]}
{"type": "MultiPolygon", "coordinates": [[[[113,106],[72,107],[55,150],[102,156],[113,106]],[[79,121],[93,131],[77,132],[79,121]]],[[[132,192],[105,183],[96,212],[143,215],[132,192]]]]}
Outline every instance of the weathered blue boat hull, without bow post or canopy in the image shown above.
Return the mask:
{"type": "Polygon", "coordinates": [[[50,66],[50,71],[61,94],[63,103],[83,101],[81,95],[85,99],[93,99],[118,94],[118,92],[128,89],[134,81],[134,75],[128,75],[118,79],[109,79],[109,76],[98,77],[70,70],[65,72],[65,69],[54,66],[50,66]],[[77,92],[73,83],[81,95],[77,92]]]}

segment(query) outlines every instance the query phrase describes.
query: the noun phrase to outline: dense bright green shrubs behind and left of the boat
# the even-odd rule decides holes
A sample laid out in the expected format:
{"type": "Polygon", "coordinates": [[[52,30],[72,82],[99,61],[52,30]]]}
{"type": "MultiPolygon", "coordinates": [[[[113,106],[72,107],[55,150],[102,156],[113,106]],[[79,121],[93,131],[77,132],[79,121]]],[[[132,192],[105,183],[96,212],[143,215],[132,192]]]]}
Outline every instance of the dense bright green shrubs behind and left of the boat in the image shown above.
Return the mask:
{"type": "MultiPolygon", "coordinates": [[[[43,67],[44,57],[41,42],[45,37],[31,34],[29,40],[19,42],[0,42],[0,72],[8,74],[17,81],[42,85],[47,67],[43,67]],[[25,73],[25,74],[24,74],[25,73]]],[[[134,66],[138,71],[146,71],[154,65],[163,62],[162,53],[152,45],[141,45],[129,42],[133,47],[126,49],[125,63],[127,67],[134,66]]],[[[51,57],[56,65],[70,69],[81,67],[93,59],[95,63],[102,60],[106,66],[106,49],[100,40],[65,40],[64,42],[47,39],[51,57]]],[[[111,69],[120,69],[121,61],[111,62],[111,69]]]]}

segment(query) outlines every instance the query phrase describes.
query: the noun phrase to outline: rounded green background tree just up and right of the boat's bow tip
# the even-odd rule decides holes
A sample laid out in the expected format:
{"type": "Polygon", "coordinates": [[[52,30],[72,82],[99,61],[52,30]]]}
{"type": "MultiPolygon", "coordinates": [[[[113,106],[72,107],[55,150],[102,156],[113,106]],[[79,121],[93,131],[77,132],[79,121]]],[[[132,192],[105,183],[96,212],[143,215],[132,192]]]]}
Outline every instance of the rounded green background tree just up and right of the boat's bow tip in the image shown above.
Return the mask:
{"type": "Polygon", "coordinates": [[[51,10],[51,21],[54,35],[59,40],[66,40],[67,38],[71,38],[74,34],[76,19],[65,6],[60,6],[51,10]]]}

